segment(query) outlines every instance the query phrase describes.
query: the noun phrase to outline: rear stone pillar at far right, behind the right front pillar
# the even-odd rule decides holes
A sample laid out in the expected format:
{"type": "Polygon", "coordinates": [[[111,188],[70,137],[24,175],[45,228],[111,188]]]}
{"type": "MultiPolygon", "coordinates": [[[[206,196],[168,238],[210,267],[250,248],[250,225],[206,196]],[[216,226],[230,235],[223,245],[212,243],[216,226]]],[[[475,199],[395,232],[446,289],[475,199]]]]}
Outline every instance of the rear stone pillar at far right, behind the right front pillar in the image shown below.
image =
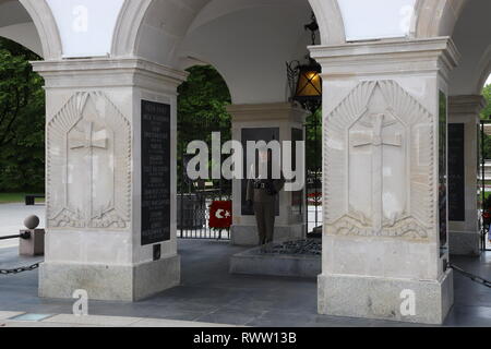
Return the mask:
{"type": "Polygon", "coordinates": [[[480,115],[482,96],[448,100],[448,248],[455,255],[480,255],[478,213],[480,115]]]}

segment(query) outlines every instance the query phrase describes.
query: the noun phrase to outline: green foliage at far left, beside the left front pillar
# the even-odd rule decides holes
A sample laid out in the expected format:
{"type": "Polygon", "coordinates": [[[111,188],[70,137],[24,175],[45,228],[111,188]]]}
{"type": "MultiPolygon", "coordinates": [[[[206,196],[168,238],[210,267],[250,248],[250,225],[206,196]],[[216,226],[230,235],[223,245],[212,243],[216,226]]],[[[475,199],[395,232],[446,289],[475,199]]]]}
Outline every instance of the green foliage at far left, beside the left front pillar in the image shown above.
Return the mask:
{"type": "Polygon", "coordinates": [[[0,191],[44,191],[45,94],[29,61],[40,59],[0,38],[0,191]]]}

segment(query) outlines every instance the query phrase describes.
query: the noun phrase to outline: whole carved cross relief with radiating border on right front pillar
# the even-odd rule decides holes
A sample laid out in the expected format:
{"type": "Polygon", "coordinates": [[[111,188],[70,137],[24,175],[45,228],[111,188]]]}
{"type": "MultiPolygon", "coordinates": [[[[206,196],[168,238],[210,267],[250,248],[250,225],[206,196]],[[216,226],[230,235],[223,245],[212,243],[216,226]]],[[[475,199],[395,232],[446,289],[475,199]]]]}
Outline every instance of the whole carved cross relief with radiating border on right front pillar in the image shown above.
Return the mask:
{"type": "Polygon", "coordinates": [[[431,112],[396,81],[362,81],[324,124],[327,234],[428,239],[435,217],[431,112]]]}

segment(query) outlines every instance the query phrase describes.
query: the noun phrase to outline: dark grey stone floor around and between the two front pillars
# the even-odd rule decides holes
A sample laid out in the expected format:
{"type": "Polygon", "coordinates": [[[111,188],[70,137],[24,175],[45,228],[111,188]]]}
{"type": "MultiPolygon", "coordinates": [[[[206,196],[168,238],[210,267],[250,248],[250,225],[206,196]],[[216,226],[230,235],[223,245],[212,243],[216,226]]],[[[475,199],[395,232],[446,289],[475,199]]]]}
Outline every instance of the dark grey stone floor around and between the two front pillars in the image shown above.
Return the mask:
{"type": "MultiPolygon", "coordinates": [[[[182,286],[137,303],[91,301],[88,312],[248,326],[408,325],[318,315],[314,279],[229,275],[228,260],[240,251],[243,249],[225,242],[181,240],[182,286]]],[[[0,268],[32,262],[35,260],[20,258],[15,249],[0,249],[0,268]]],[[[491,254],[453,262],[491,278],[491,254]]],[[[72,301],[39,299],[37,272],[27,272],[0,276],[0,311],[70,314],[72,301]]],[[[445,325],[491,326],[491,289],[456,275],[455,305],[445,325]]]]}

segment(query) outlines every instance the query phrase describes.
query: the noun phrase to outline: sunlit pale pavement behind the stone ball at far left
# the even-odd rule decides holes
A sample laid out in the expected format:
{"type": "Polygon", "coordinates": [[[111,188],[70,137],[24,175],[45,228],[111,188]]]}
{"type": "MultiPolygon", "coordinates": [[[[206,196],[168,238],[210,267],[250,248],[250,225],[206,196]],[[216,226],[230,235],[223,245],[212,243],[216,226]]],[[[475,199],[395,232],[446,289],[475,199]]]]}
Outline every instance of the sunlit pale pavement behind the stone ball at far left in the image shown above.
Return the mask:
{"type": "MultiPolygon", "coordinates": [[[[0,237],[19,233],[20,229],[24,229],[24,219],[31,215],[38,216],[39,227],[45,227],[45,205],[0,204],[0,237]]],[[[0,248],[16,245],[19,245],[19,240],[0,241],[0,248]]]]}

